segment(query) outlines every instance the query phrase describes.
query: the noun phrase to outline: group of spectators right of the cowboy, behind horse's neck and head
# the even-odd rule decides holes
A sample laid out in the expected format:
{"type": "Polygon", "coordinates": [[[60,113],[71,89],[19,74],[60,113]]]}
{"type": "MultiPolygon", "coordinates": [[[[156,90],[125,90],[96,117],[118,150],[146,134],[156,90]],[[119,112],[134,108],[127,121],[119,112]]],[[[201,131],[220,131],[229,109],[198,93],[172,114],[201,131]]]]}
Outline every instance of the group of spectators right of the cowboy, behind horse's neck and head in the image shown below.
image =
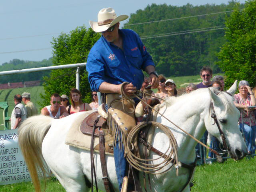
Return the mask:
{"type": "MultiPolygon", "coordinates": [[[[190,93],[193,90],[199,88],[208,88],[208,87],[216,87],[220,91],[224,91],[224,77],[221,75],[216,75],[212,77],[212,69],[210,67],[203,67],[200,70],[200,77],[202,82],[199,84],[190,83],[185,91],[186,93],[190,93]]],[[[244,139],[246,141],[246,145],[248,147],[248,154],[254,154],[256,150],[256,120],[255,115],[256,110],[254,108],[250,108],[249,106],[256,105],[256,98],[254,93],[256,94],[256,87],[254,89],[250,88],[249,83],[246,80],[242,80],[238,84],[239,93],[234,95],[234,104],[240,110],[240,118],[238,121],[238,126],[240,127],[240,131],[242,132],[244,139]]],[[[176,84],[174,80],[168,79],[162,75],[159,76],[159,86],[158,91],[155,93],[159,99],[164,99],[166,97],[177,96],[176,84]]],[[[163,100],[160,100],[163,102],[163,100]]],[[[219,153],[223,153],[220,149],[220,142],[218,139],[206,131],[201,138],[201,142],[207,144],[207,140],[210,144],[210,148],[213,148],[219,153]]],[[[204,149],[199,144],[196,145],[196,156],[198,159],[206,159],[204,149]],[[201,147],[201,149],[200,149],[201,147]]],[[[211,151],[208,153],[208,158],[216,157],[211,151]]]]}

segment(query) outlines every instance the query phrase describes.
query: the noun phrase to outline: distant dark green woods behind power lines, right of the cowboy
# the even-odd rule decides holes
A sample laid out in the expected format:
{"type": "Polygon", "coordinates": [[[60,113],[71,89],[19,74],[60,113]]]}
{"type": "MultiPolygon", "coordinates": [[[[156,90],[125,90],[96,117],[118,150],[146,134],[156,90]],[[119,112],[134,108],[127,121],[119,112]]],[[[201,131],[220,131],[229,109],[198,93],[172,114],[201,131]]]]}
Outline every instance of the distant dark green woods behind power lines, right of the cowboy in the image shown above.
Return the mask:
{"type": "MultiPolygon", "coordinates": [[[[228,11],[233,10],[235,4],[234,1],[201,6],[151,4],[144,10],[131,14],[126,23],[128,25],[124,24],[124,28],[130,28],[139,34],[160,74],[167,77],[196,75],[202,66],[210,66],[214,73],[218,73],[222,71],[216,64],[216,54],[226,38],[224,29],[213,29],[225,28],[225,17],[232,14],[228,11]],[[159,20],[167,21],[150,22],[159,20]],[[143,22],[150,23],[138,24],[143,22]],[[162,37],[149,38],[153,36],[162,37]]],[[[242,9],[244,5],[239,4],[238,7],[242,9]]]]}

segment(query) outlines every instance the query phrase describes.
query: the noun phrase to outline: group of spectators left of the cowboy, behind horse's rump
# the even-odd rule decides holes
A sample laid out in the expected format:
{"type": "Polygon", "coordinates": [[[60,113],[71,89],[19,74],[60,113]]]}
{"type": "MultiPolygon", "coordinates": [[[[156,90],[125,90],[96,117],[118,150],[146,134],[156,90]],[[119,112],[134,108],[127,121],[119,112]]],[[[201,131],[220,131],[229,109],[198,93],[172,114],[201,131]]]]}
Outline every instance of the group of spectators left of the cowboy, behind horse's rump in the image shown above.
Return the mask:
{"type": "MultiPolygon", "coordinates": [[[[22,95],[14,95],[15,106],[9,119],[11,129],[19,128],[20,123],[26,118],[38,115],[38,110],[30,99],[30,93],[28,92],[24,92],[22,95]],[[24,104],[22,104],[22,101],[24,104]]],[[[80,91],[76,88],[72,88],[70,90],[70,100],[66,94],[62,94],[62,96],[60,96],[58,93],[52,94],[50,97],[50,105],[42,108],[41,115],[59,119],[76,112],[97,110],[98,107],[99,104],[97,92],[92,92],[92,102],[88,104],[82,102],[80,91]]]]}

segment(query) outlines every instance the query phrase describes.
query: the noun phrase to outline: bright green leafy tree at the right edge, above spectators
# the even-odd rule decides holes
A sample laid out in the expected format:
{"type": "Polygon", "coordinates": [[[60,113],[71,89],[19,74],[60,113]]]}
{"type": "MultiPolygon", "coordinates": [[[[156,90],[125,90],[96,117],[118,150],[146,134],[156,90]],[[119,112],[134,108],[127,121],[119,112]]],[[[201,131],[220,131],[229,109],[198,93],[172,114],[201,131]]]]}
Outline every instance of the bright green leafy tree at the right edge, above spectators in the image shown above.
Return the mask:
{"type": "Polygon", "coordinates": [[[218,65],[227,77],[229,87],[237,80],[247,80],[255,85],[256,76],[256,1],[249,0],[243,10],[239,4],[226,18],[226,39],[218,54],[218,65]]]}

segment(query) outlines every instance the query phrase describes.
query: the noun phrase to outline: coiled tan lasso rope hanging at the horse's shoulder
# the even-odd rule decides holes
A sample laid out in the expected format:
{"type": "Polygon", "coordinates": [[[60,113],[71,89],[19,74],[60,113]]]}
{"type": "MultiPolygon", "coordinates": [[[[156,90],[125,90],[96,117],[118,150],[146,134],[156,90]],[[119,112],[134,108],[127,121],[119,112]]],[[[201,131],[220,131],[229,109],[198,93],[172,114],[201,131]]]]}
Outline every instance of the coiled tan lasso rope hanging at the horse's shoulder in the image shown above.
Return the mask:
{"type": "Polygon", "coordinates": [[[135,126],[127,136],[126,160],[135,169],[145,172],[145,173],[148,173],[148,174],[162,174],[162,173],[170,170],[172,168],[172,166],[174,166],[174,164],[176,164],[176,174],[178,175],[179,166],[178,166],[178,152],[177,152],[176,139],[174,138],[172,132],[170,131],[170,129],[168,127],[166,127],[158,122],[151,122],[151,124],[153,126],[156,126],[157,128],[160,128],[168,137],[169,146],[168,146],[167,150],[164,152],[164,154],[162,154],[161,156],[159,156],[158,158],[155,158],[155,159],[142,159],[133,154],[133,152],[131,150],[133,148],[132,141],[138,135],[139,130],[148,126],[147,122],[142,122],[141,124],[135,126]],[[173,158],[172,158],[172,156],[173,156],[173,158]],[[164,160],[161,163],[153,164],[154,161],[156,161],[160,158],[164,158],[164,160]],[[171,166],[169,166],[165,170],[158,172],[159,170],[161,170],[162,168],[164,168],[165,166],[167,166],[170,163],[172,163],[171,166]]]}

